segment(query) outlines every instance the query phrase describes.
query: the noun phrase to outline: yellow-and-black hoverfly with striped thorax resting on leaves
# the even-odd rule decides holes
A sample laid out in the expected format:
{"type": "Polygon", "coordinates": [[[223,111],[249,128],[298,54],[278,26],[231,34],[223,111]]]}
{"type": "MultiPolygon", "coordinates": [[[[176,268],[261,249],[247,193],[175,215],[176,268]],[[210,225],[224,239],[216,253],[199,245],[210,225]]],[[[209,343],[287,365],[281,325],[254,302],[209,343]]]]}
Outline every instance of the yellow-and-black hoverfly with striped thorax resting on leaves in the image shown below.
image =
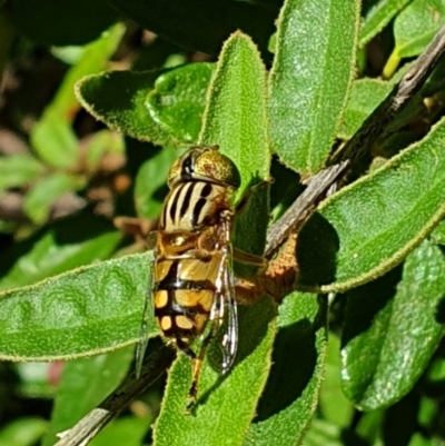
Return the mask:
{"type": "Polygon", "coordinates": [[[170,191],[164,202],[156,236],[151,280],[142,319],[141,341],[137,350],[140,370],[147,340],[146,325],[154,307],[162,336],[192,360],[190,406],[196,400],[197,384],[211,337],[226,319],[221,339],[221,371],[234,364],[238,346],[235,301],[234,258],[258,267],[265,260],[238,251],[230,244],[236,207],[234,196],[240,186],[235,163],[218,151],[218,146],[192,147],[171,166],[170,191]],[[210,329],[198,354],[191,344],[210,329]]]}

